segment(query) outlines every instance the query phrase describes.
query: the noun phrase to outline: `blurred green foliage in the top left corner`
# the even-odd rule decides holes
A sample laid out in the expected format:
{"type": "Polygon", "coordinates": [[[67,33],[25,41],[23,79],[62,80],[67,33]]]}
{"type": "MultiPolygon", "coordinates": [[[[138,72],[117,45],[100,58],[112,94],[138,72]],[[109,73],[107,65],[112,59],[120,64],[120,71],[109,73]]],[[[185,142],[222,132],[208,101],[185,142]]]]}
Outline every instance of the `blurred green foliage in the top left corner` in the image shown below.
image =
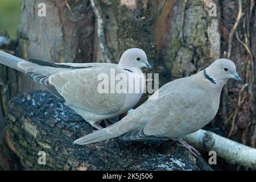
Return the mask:
{"type": "Polygon", "coordinates": [[[0,32],[7,31],[12,39],[16,39],[20,21],[20,0],[0,1],[0,32]]]}

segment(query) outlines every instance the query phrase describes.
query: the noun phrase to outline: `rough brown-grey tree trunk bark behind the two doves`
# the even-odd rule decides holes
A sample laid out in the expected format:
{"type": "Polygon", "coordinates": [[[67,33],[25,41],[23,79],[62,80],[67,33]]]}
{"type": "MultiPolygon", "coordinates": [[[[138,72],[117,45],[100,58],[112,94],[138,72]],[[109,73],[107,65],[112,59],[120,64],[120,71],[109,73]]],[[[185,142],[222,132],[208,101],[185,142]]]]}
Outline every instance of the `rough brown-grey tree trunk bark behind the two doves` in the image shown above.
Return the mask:
{"type": "MultiPolygon", "coordinates": [[[[16,55],[60,62],[106,60],[98,39],[98,16],[94,16],[90,5],[92,0],[46,1],[46,17],[37,16],[39,2],[43,1],[27,0],[22,4],[16,55]]],[[[154,65],[154,72],[159,73],[160,86],[196,73],[219,57],[232,59],[245,82],[228,82],[218,115],[205,129],[255,147],[256,11],[253,0],[94,2],[101,7],[104,45],[113,57],[112,62],[117,63],[125,49],[142,48],[154,65]],[[217,5],[217,17],[208,14],[212,2],[217,5]]],[[[9,68],[1,66],[0,70],[3,75],[1,100],[6,113],[6,101],[16,93],[39,88],[9,68]]],[[[143,97],[140,104],[146,98],[143,97]]]]}

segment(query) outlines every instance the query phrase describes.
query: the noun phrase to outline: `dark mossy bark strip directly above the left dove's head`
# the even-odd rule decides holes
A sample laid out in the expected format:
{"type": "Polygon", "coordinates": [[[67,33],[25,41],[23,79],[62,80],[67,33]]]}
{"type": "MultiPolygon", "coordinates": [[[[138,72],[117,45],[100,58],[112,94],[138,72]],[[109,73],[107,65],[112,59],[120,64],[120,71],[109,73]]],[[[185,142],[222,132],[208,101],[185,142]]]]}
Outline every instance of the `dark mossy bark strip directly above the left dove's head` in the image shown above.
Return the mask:
{"type": "MultiPolygon", "coordinates": [[[[115,1],[119,4],[119,1],[115,1]]],[[[142,8],[134,13],[134,10],[126,6],[114,6],[115,18],[117,20],[118,52],[121,54],[128,48],[142,48],[148,56],[148,60],[156,60],[154,30],[150,26],[151,2],[147,8],[142,8]]]]}

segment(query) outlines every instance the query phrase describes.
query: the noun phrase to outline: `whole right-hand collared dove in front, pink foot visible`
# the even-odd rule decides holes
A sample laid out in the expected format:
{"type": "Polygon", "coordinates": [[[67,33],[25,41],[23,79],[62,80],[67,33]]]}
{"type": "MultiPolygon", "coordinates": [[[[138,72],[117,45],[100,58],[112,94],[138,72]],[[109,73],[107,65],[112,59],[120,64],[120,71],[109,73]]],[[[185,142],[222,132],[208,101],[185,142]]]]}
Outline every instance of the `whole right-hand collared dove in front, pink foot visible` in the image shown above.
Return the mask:
{"type": "Polygon", "coordinates": [[[242,81],[233,61],[218,59],[195,75],[168,82],[159,89],[159,95],[153,94],[121,121],[74,143],[88,144],[115,137],[125,140],[171,138],[195,154],[195,148],[181,138],[212,121],[220,104],[221,89],[229,78],[242,81]]]}

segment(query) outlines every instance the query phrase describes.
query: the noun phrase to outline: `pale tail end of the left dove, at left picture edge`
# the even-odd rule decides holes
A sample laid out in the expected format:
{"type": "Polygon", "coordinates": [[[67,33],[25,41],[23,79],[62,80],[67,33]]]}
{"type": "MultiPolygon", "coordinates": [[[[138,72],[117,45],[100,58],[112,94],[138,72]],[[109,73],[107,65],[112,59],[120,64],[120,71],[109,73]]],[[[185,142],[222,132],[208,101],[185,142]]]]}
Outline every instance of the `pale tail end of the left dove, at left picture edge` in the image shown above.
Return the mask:
{"type": "Polygon", "coordinates": [[[6,65],[7,67],[14,68],[17,71],[24,72],[23,69],[18,67],[18,63],[24,61],[19,57],[10,55],[9,53],[0,51],[0,63],[6,65]]]}

